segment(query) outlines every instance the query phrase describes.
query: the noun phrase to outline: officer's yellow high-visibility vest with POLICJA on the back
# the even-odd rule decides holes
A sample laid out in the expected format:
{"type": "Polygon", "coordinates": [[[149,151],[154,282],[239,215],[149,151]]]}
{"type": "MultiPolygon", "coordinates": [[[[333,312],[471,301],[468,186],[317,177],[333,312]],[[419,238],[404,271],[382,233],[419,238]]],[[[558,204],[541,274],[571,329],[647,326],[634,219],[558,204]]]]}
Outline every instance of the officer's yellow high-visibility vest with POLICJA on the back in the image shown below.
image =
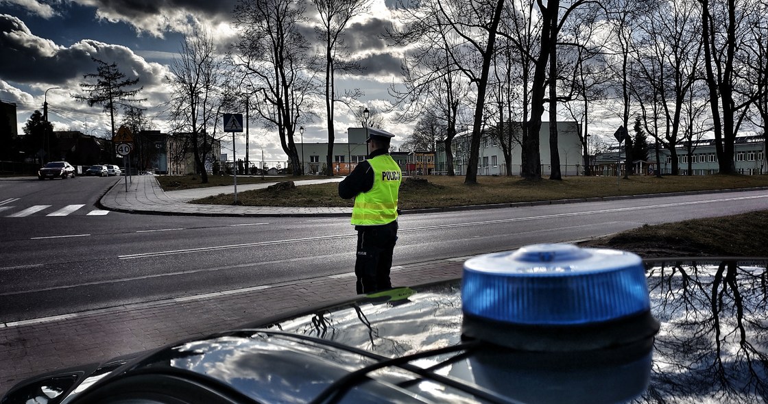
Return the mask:
{"type": "Polygon", "coordinates": [[[386,225],[397,219],[397,195],[400,190],[400,166],[392,156],[382,154],[367,160],[373,169],[373,186],[355,197],[353,225],[386,225]]]}

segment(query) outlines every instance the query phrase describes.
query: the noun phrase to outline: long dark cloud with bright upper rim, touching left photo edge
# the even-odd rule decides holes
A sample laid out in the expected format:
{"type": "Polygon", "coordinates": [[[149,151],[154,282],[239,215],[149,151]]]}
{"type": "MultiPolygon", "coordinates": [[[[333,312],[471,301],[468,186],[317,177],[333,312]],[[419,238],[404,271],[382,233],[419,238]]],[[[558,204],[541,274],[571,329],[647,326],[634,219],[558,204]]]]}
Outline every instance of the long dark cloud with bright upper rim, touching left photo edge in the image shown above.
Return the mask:
{"type": "Polygon", "coordinates": [[[116,63],[127,77],[137,74],[154,80],[157,67],[147,64],[130,49],[82,40],[70,47],[61,47],[32,34],[23,21],[11,15],[0,15],[0,77],[20,84],[64,84],[81,80],[84,74],[95,73],[95,57],[109,64],[116,63]]]}

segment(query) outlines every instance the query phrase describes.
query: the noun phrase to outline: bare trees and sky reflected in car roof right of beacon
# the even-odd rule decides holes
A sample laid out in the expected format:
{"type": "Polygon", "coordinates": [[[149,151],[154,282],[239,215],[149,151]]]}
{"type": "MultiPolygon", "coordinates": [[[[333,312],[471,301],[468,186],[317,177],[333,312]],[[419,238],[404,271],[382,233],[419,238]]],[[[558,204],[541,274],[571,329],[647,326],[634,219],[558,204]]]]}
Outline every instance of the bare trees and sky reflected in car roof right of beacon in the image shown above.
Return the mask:
{"type": "Polygon", "coordinates": [[[763,402],[766,263],[661,264],[648,271],[648,286],[662,326],[651,386],[640,401],[763,402]]]}

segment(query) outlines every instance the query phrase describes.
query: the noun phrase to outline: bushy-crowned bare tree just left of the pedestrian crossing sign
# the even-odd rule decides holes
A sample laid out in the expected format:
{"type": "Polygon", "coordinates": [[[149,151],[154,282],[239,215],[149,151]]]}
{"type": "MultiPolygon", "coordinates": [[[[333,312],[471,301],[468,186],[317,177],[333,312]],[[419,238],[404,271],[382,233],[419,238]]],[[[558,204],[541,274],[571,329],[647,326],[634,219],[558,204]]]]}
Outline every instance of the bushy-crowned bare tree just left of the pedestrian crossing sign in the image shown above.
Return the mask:
{"type": "Polygon", "coordinates": [[[213,38],[204,30],[185,37],[179,54],[166,77],[172,89],[168,113],[174,130],[188,133],[185,146],[192,149],[195,169],[202,182],[207,183],[205,165],[217,140],[217,123],[225,98],[223,83],[230,77],[226,71],[228,64],[217,56],[213,38]]]}

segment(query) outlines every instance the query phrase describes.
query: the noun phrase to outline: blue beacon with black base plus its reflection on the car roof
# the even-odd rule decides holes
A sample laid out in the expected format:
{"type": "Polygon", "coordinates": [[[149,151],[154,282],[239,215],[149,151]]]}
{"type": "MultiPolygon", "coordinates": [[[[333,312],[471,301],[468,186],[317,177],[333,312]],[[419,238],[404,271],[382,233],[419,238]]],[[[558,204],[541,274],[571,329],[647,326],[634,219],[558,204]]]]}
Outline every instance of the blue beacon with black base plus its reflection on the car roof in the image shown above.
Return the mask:
{"type": "Polygon", "coordinates": [[[641,395],[659,323],[642,260],[529,245],[464,264],[462,337],[475,383],[520,402],[614,403],[641,395]]]}

